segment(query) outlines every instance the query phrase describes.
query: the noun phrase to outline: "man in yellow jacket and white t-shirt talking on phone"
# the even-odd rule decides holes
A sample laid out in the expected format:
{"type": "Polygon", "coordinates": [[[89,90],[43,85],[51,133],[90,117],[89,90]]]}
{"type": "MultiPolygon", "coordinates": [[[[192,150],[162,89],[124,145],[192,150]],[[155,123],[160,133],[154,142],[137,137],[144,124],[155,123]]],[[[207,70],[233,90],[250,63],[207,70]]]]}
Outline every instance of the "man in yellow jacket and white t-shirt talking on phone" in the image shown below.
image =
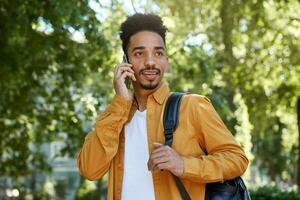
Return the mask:
{"type": "Polygon", "coordinates": [[[116,95],[78,156],[80,173],[89,180],[109,171],[108,199],[181,199],[171,173],[191,199],[204,199],[205,183],[233,179],[247,168],[245,153],[203,96],[183,97],[172,148],[163,145],[162,116],[170,95],[162,82],[166,30],[151,14],[135,14],[121,25],[129,63],[116,66],[116,95]]]}

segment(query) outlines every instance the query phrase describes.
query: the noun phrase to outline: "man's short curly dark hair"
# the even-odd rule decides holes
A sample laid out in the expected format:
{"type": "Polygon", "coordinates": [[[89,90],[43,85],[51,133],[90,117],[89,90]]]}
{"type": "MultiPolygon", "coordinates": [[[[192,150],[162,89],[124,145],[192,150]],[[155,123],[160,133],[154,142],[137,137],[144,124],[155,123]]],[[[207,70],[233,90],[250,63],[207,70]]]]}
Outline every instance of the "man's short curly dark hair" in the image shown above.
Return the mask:
{"type": "Polygon", "coordinates": [[[158,15],[136,13],[127,17],[120,27],[120,38],[122,40],[122,48],[124,53],[127,55],[130,37],[137,32],[155,32],[161,36],[164,44],[166,44],[167,30],[167,27],[163,25],[163,21],[158,15]]]}

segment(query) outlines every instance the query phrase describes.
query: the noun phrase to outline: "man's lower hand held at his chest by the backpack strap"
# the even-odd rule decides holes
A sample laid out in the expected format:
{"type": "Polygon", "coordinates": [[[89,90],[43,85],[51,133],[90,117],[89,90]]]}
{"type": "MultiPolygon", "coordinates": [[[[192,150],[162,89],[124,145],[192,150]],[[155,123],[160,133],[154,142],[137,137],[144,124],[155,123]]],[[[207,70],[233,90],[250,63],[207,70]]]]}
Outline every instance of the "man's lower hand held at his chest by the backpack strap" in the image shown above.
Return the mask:
{"type": "Polygon", "coordinates": [[[148,169],[153,172],[166,169],[175,176],[181,176],[183,174],[184,165],[182,158],[176,151],[160,143],[153,143],[153,145],[154,150],[148,161],[148,169]]]}

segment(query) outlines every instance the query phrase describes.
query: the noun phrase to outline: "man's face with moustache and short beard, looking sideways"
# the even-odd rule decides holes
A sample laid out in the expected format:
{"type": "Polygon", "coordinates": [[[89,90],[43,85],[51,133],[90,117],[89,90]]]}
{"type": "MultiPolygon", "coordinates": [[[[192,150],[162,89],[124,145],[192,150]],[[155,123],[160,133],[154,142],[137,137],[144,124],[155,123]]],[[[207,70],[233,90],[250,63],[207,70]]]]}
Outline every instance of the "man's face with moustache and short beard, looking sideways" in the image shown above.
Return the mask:
{"type": "Polygon", "coordinates": [[[131,36],[127,54],[133,65],[136,89],[152,90],[161,85],[168,66],[163,39],[157,33],[141,31],[131,36]]]}

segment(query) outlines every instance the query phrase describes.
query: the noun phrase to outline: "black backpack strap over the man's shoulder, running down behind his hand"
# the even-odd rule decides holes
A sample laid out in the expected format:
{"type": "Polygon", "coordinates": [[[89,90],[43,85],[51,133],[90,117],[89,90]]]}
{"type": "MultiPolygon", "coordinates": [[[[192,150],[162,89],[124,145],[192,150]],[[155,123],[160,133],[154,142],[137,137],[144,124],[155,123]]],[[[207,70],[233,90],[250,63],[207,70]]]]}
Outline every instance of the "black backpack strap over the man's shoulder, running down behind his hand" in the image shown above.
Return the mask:
{"type": "MultiPolygon", "coordinates": [[[[178,92],[172,93],[169,96],[165,106],[163,124],[164,124],[164,133],[165,133],[165,145],[168,146],[172,146],[173,143],[173,132],[176,130],[178,126],[179,107],[183,95],[184,93],[178,93],[178,92]]],[[[174,174],[172,175],[182,199],[191,200],[188,192],[186,191],[180,179],[174,174]]]]}

